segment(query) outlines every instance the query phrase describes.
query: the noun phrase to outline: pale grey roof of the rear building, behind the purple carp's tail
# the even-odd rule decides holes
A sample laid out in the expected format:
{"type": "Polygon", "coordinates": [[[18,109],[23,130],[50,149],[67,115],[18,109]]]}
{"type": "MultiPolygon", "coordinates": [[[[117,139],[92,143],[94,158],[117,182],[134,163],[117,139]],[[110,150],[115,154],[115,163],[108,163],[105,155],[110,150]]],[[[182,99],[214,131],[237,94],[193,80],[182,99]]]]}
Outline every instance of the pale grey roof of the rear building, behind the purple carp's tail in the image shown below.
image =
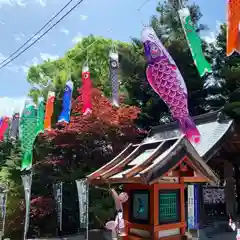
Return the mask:
{"type": "MultiPolygon", "coordinates": [[[[231,132],[233,120],[226,118],[220,111],[202,114],[193,117],[193,119],[201,134],[200,143],[193,144],[193,146],[200,157],[208,161],[219,150],[221,143],[231,132]]],[[[143,142],[154,142],[181,136],[182,133],[177,123],[173,122],[152,127],[148,137],[143,142]]]]}

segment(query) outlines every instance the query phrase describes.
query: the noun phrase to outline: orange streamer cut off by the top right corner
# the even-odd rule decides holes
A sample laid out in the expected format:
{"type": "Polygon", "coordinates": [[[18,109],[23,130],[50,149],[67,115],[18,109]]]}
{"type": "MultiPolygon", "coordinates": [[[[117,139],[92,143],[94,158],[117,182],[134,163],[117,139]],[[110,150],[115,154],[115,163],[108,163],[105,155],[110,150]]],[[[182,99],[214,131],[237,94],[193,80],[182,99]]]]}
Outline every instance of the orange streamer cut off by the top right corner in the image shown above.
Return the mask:
{"type": "Polygon", "coordinates": [[[227,56],[240,54],[240,0],[228,0],[227,56]]]}

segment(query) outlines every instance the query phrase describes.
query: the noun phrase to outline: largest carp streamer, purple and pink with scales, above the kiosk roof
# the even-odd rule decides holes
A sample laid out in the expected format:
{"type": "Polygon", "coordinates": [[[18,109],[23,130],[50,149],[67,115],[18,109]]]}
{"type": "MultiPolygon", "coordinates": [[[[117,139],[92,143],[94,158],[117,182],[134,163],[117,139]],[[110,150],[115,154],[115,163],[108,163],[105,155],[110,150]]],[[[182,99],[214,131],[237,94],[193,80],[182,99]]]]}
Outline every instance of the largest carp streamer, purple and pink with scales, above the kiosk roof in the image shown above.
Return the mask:
{"type": "Polygon", "coordinates": [[[187,88],[175,62],[151,27],[142,31],[149,84],[168,105],[172,116],[191,142],[200,141],[200,133],[189,116],[187,88]]]}

